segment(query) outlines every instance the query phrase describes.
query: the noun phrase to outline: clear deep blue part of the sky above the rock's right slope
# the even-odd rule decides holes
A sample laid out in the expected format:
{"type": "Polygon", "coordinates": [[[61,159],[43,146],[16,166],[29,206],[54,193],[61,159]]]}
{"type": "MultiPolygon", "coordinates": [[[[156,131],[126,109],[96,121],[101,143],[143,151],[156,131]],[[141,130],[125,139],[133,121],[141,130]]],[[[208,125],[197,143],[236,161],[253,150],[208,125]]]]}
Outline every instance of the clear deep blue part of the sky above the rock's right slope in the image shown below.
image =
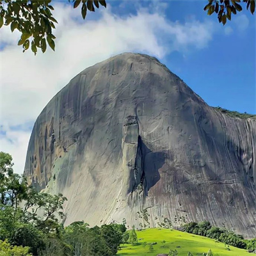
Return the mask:
{"type": "MultiPolygon", "coordinates": [[[[127,2],[125,8],[120,8],[117,1],[112,1],[113,12],[122,16],[136,13],[136,1],[127,2]]],[[[142,5],[149,2],[142,1],[142,5]]],[[[214,34],[209,45],[200,51],[175,51],[160,60],[210,106],[256,114],[255,16],[244,8],[223,26],[215,13],[209,16],[204,12],[207,1],[164,3],[166,6],[160,8],[173,22],[207,19],[213,23],[213,29],[226,32],[214,34]]]]}

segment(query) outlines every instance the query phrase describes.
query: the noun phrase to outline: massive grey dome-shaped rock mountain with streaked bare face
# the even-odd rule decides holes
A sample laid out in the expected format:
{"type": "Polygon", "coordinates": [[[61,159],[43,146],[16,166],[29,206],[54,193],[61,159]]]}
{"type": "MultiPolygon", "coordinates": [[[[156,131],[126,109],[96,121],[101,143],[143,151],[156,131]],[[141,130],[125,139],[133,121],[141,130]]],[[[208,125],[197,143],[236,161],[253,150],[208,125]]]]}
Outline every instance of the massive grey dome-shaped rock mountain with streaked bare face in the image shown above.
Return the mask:
{"type": "Polygon", "coordinates": [[[256,120],[211,108],[143,54],[74,77],[38,116],[24,173],[67,196],[67,225],[209,220],[256,236],[256,120]]]}

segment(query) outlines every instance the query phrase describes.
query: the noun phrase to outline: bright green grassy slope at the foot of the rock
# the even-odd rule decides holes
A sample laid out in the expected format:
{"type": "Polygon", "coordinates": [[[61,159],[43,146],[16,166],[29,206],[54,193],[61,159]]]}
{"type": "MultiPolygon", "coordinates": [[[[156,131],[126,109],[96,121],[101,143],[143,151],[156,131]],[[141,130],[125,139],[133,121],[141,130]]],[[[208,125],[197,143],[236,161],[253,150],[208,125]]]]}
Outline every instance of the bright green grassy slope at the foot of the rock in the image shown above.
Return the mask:
{"type": "Polygon", "coordinates": [[[149,228],[147,230],[142,230],[137,232],[138,242],[140,244],[132,246],[131,244],[123,244],[121,250],[118,251],[119,256],[131,255],[131,256],[156,256],[159,253],[168,253],[170,249],[177,250],[179,256],[187,256],[188,252],[193,253],[207,253],[209,249],[212,250],[214,256],[246,256],[252,253],[246,252],[233,246],[229,246],[230,251],[227,250],[227,246],[220,242],[215,242],[214,239],[208,237],[196,236],[186,232],[180,232],[177,230],[159,229],[159,228],[149,228]],[[165,243],[162,243],[166,241],[165,243]],[[149,244],[143,248],[143,243],[154,243],[154,251],[150,252],[149,244]],[[166,246],[166,248],[160,248],[161,246],[166,246]]]}

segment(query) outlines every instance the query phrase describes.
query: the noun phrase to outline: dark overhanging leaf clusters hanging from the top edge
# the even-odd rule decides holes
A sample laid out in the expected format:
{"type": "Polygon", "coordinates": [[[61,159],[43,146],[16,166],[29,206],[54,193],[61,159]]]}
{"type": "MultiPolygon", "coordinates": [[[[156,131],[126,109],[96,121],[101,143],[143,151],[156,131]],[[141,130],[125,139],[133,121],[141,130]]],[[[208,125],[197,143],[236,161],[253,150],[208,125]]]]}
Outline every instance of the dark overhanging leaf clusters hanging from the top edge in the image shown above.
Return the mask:
{"type": "MultiPolygon", "coordinates": [[[[100,5],[106,8],[105,0],[67,0],[72,2],[73,7],[81,8],[81,15],[83,19],[86,13],[95,12],[95,8],[100,5]]],[[[206,1],[206,0],[205,0],[206,1]]],[[[232,14],[243,10],[241,0],[208,0],[209,3],[204,10],[208,15],[216,13],[219,22],[226,24],[227,19],[231,20],[232,14]]],[[[255,0],[242,0],[246,5],[247,10],[253,14],[255,12],[255,0]]],[[[20,31],[21,36],[18,45],[22,45],[23,52],[31,48],[31,51],[36,52],[41,49],[45,52],[47,44],[54,51],[56,36],[53,35],[52,30],[55,29],[58,21],[53,17],[52,11],[54,7],[51,5],[51,0],[0,0],[0,28],[10,26],[11,31],[15,29],[20,31]]]]}

